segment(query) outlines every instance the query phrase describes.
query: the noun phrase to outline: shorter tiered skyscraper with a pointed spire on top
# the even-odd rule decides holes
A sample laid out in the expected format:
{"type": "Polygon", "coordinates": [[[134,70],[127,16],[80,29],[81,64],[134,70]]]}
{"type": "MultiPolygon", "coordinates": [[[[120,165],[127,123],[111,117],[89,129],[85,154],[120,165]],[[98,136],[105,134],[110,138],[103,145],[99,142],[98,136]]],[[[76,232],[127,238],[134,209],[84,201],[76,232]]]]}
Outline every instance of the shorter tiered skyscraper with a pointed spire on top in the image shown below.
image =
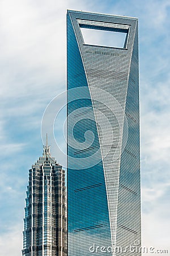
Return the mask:
{"type": "Polygon", "coordinates": [[[67,255],[65,171],[46,146],[29,170],[23,232],[23,256],[67,255]]]}

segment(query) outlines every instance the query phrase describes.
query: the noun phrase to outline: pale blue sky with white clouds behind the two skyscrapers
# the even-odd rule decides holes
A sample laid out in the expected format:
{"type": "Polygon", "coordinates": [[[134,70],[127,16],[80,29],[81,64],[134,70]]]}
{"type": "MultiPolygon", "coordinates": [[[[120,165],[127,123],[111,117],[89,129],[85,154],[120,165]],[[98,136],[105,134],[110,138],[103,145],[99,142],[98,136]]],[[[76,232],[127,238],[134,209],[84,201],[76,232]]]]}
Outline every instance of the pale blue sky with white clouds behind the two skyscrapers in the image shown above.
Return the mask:
{"type": "Polygon", "coordinates": [[[1,255],[22,255],[25,191],[42,154],[42,115],[66,89],[66,9],[139,18],[142,242],[170,255],[169,0],[0,1],[1,255]]]}

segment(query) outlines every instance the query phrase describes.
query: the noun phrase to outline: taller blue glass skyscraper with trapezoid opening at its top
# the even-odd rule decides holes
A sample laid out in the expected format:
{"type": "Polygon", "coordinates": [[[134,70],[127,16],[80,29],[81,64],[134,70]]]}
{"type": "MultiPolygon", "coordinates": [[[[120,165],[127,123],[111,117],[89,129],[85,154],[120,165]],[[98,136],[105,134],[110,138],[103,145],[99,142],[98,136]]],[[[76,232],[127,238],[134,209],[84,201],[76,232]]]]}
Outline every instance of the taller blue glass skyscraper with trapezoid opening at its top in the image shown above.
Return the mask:
{"type": "Polygon", "coordinates": [[[68,255],[141,255],[137,18],[67,11],[67,99],[68,255]]]}

